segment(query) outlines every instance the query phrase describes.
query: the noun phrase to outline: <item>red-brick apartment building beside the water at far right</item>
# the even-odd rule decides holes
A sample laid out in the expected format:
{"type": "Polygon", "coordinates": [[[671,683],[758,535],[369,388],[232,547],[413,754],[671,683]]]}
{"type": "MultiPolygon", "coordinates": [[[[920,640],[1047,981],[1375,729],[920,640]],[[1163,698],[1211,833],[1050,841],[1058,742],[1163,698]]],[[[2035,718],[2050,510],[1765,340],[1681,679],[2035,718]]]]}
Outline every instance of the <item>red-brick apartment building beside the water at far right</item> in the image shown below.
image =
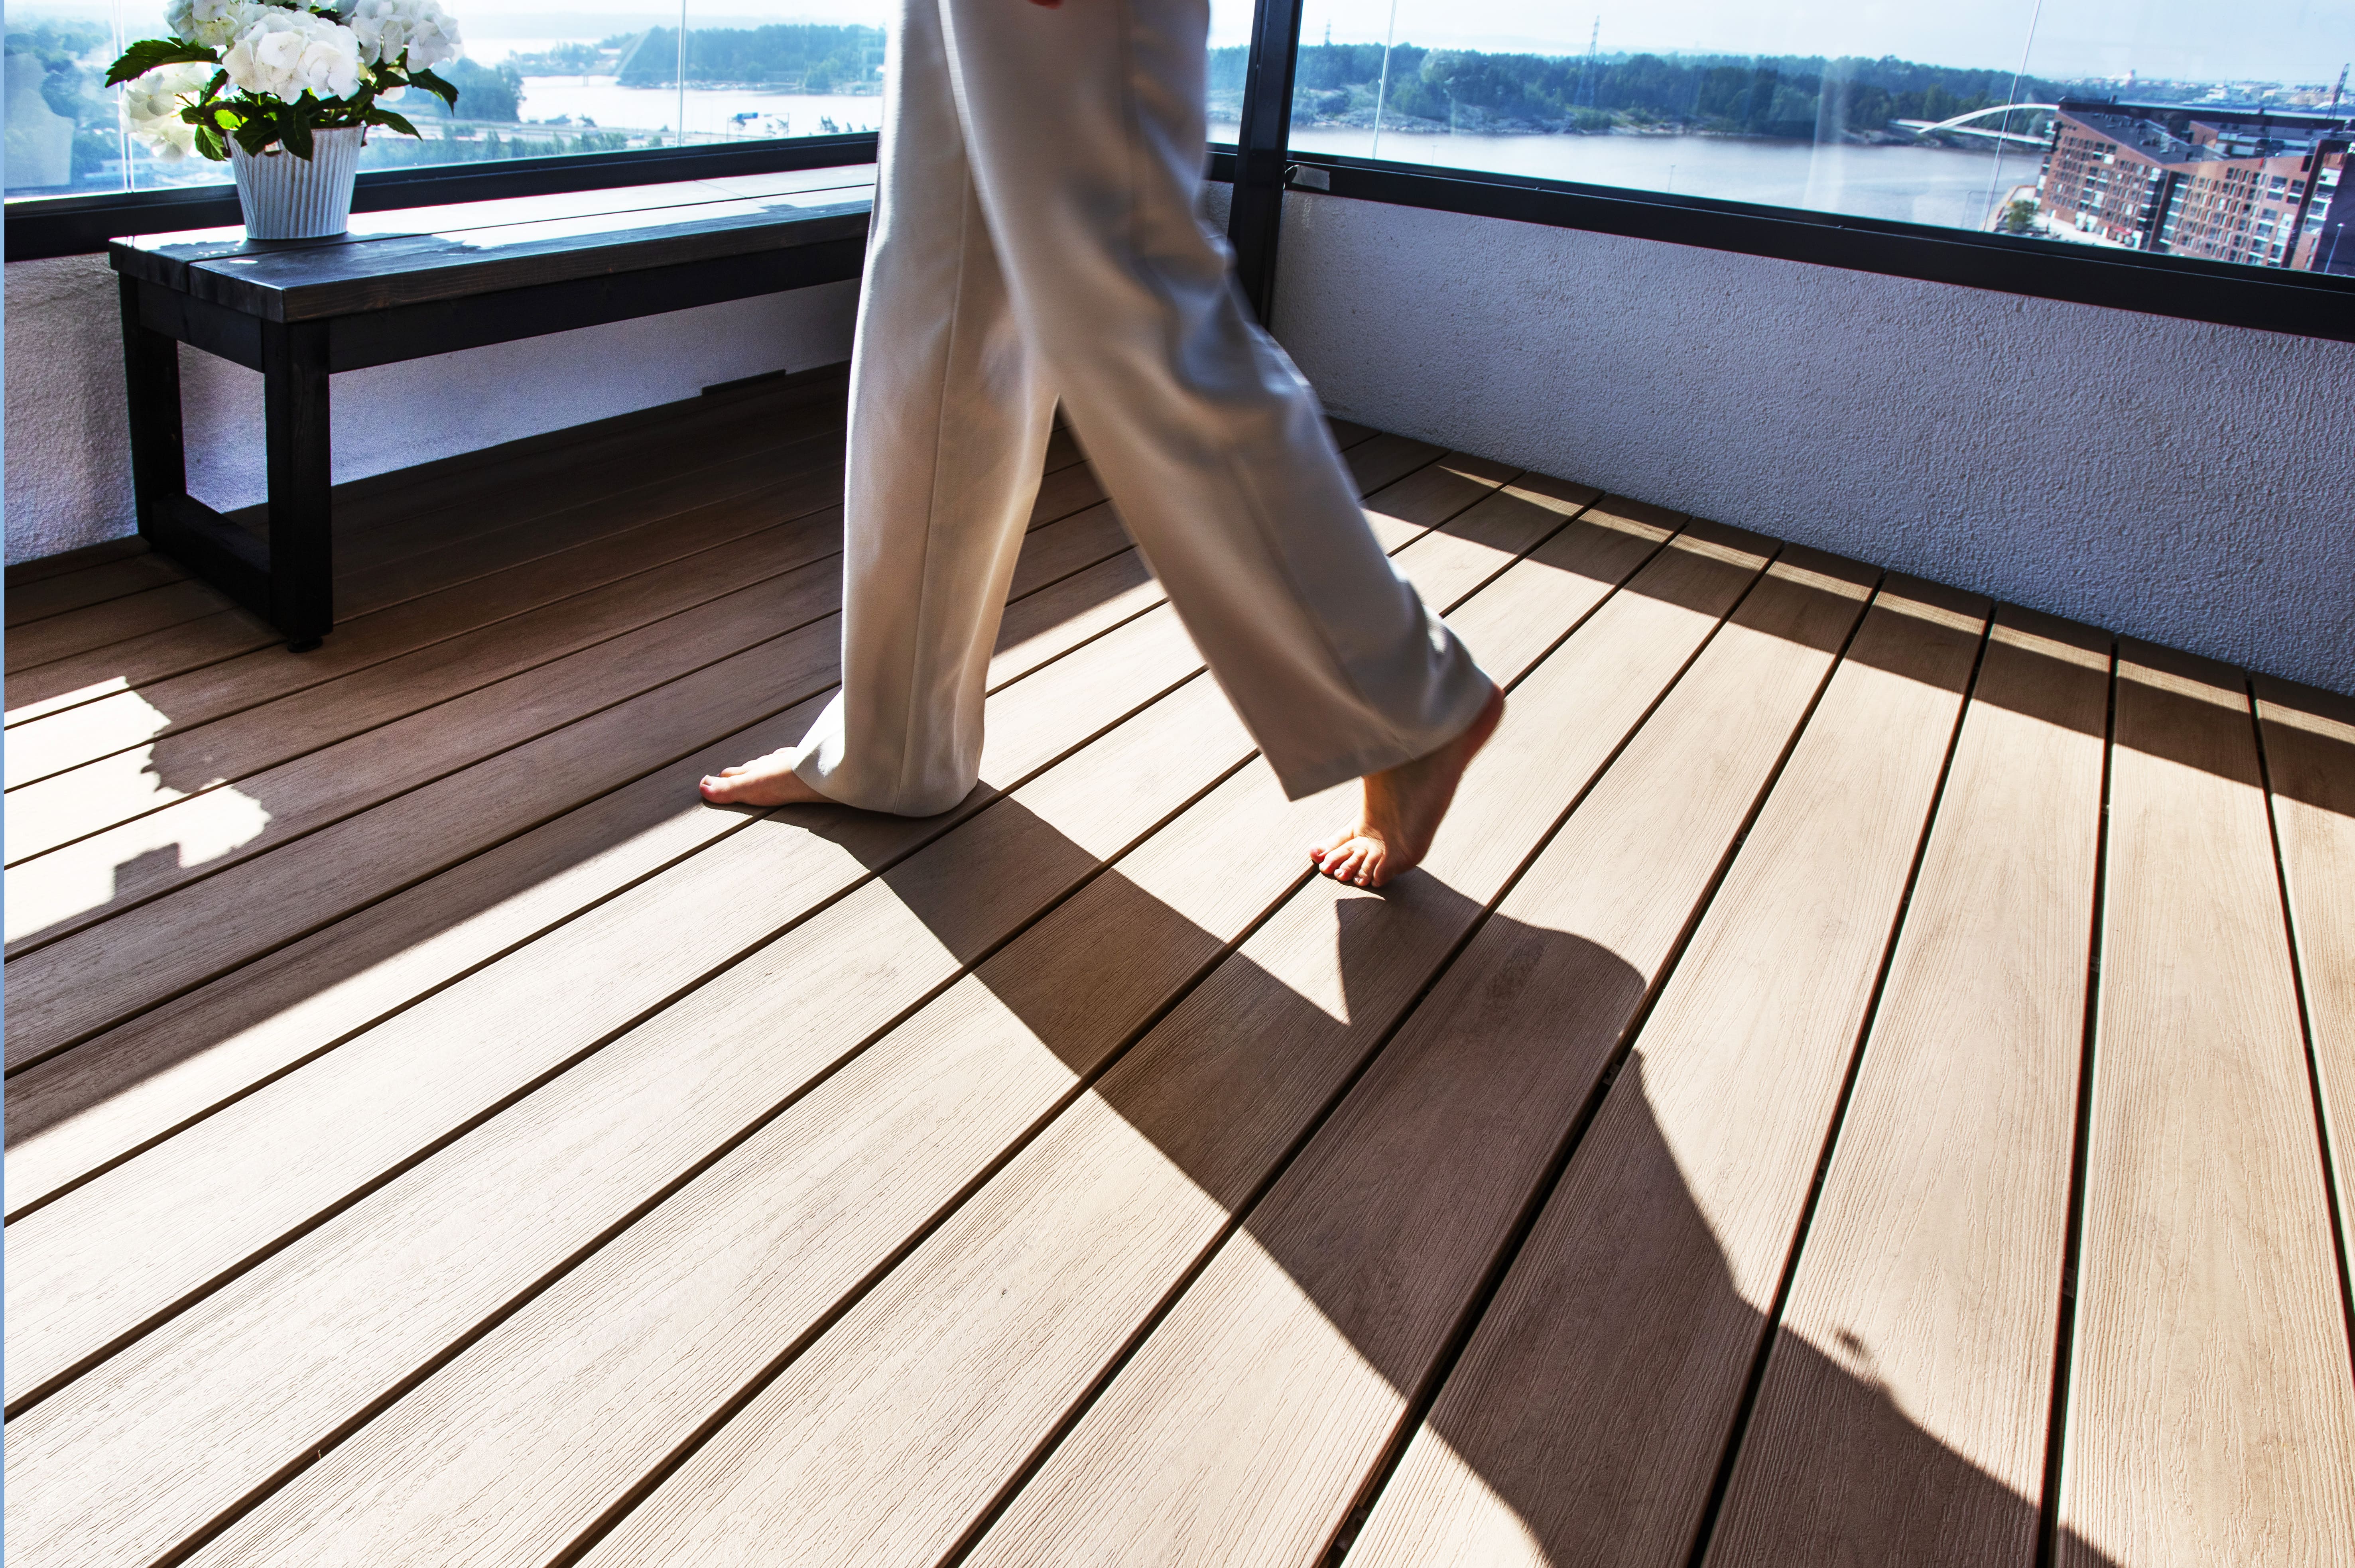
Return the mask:
{"type": "Polygon", "coordinates": [[[2350,141],[2324,115],[2063,101],[2037,210],[2110,245],[2355,273],[2355,198],[2331,200],[2350,141]]]}

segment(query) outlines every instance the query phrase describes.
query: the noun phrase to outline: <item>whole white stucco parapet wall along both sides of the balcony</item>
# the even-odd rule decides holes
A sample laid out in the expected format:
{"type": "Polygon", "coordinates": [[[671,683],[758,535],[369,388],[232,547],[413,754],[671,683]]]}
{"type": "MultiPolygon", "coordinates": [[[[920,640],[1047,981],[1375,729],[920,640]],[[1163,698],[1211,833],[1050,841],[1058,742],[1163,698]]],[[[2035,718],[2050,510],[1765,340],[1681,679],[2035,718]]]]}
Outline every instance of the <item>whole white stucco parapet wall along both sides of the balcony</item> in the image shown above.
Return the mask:
{"type": "MultiPolygon", "coordinates": [[[[841,360],[853,304],[337,377],[337,478],[841,360]]],[[[104,259],[7,268],[9,560],[132,527],[115,332],[104,259]]],[[[2355,692],[2350,344],[1316,195],[1276,332],[1352,419],[2355,692]]],[[[261,379],[181,360],[191,487],[261,499],[261,379]]]]}

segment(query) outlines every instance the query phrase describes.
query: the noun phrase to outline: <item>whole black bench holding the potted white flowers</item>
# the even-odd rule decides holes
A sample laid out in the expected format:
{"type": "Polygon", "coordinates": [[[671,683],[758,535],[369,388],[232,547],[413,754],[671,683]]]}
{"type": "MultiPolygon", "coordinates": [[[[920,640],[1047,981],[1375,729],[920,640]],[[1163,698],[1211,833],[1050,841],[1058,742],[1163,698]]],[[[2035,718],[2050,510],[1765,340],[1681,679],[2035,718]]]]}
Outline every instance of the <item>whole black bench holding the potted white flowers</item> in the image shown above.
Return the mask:
{"type": "Polygon", "coordinates": [[[139,532],[297,652],[334,626],[327,379],[857,278],[871,167],[356,214],[334,240],[111,240],[139,532]],[[179,344],[261,372],[268,537],[188,494],[179,344]]]}

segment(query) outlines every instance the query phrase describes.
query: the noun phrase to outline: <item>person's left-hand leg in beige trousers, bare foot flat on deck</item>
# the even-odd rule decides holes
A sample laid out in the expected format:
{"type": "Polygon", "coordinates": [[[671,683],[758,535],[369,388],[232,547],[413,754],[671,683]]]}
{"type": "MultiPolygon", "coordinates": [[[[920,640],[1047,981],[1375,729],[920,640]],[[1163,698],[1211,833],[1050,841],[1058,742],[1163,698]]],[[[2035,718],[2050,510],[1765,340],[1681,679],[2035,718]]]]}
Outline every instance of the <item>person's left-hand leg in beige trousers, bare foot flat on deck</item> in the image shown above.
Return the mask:
{"type": "Polygon", "coordinates": [[[937,0],[907,5],[888,59],[850,360],[843,685],[801,744],[706,779],[716,803],[923,817],[980,770],[989,650],[1055,405],[982,221],[937,0]]]}

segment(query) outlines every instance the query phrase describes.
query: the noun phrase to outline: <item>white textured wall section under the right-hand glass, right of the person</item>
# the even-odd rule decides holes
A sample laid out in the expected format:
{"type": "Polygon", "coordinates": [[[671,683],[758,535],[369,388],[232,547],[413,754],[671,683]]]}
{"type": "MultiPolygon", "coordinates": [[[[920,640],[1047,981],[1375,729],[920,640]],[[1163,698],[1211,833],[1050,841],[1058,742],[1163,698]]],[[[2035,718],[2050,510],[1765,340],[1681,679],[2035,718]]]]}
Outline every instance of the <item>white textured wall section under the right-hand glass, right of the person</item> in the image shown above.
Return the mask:
{"type": "Polygon", "coordinates": [[[1293,195],[1352,419],[2355,692],[2355,344],[1293,195]]]}

